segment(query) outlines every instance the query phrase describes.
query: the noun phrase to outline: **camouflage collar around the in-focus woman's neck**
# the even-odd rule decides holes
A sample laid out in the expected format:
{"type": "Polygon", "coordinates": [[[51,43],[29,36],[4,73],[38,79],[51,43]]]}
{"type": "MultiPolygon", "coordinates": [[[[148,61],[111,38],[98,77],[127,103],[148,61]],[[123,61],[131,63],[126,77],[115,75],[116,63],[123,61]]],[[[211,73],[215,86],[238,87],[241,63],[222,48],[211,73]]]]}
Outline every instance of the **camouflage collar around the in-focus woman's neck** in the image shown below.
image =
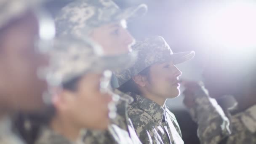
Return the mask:
{"type": "Polygon", "coordinates": [[[152,101],[140,95],[136,95],[134,97],[134,102],[137,104],[138,107],[140,107],[150,116],[152,116],[156,123],[161,123],[166,109],[165,106],[161,107],[155,101],[152,101]]]}

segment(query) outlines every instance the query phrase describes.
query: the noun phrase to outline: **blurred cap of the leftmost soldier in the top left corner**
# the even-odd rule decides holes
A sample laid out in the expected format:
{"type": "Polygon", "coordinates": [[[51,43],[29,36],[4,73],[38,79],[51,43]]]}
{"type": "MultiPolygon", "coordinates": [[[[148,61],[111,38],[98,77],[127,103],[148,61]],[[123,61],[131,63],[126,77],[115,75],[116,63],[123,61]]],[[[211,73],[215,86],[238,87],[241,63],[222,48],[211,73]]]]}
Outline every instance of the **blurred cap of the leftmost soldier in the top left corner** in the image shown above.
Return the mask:
{"type": "Polygon", "coordinates": [[[29,8],[36,8],[45,0],[0,0],[0,28],[29,8]]]}

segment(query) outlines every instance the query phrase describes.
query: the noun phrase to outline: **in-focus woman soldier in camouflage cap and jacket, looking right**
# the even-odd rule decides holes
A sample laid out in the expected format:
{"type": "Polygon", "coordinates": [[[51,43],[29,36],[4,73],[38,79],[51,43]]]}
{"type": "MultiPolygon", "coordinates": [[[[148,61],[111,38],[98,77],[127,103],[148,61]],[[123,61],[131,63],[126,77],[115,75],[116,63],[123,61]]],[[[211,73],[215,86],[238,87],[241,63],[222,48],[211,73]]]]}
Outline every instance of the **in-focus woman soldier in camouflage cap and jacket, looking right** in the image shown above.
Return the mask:
{"type": "Polygon", "coordinates": [[[133,96],[128,116],[136,133],[143,144],[183,144],[179,124],[165,101],[180,94],[181,71],[175,64],[192,59],[195,53],[173,53],[160,36],[137,42],[133,50],[138,51],[136,63],[115,74],[118,89],[133,96]]]}

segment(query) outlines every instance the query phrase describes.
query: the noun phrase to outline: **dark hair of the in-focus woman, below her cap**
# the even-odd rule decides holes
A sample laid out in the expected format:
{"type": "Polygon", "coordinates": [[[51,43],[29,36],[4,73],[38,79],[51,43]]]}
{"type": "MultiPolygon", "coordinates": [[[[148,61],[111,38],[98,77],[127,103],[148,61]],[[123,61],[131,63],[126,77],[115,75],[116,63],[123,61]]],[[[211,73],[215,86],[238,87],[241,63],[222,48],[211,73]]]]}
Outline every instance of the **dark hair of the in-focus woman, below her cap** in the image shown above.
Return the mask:
{"type": "MultiPolygon", "coordinates": [[[[147,79],[150,80],[149,72],[150,72],[150,67],[147,67],[143,69],[141,72],[139,72],[138,75],[146,76],[147,79]]],[[[131,92],[131,96],[135,96],[136,94],[138,95],[142,94],[141,90],[139,89],[139,86],[134,82],[132,78],[117,89],[119,91],[122,91],[123,93],[131,92]]]]}

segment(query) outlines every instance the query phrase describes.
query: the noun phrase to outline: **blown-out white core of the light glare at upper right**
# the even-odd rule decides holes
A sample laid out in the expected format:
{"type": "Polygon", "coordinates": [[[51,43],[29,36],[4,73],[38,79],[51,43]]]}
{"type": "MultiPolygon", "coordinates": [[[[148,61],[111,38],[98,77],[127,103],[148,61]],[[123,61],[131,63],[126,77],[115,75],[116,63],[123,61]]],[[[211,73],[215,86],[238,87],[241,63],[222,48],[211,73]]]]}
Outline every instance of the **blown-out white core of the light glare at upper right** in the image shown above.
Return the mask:
{"type": "Polygon", "coordinates": [[[211,13],[203,24],[207,40],[229,48],[256,47],[256,2],[229,3],[211,13]]]}

